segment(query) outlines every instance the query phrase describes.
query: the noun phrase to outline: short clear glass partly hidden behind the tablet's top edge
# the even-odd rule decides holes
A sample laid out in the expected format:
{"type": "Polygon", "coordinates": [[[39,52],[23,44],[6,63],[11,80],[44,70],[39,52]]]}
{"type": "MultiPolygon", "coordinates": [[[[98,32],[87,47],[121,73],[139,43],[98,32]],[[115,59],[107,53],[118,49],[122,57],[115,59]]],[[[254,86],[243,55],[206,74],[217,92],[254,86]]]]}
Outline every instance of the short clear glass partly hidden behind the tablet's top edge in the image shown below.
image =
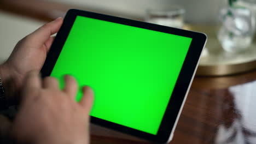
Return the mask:
{"type": "Polygon", "coordinates": [[[185,9],[179,5],[173,5],[168,9],[148,9],[146,22],[158,25],[183,28],[185,9]]]}

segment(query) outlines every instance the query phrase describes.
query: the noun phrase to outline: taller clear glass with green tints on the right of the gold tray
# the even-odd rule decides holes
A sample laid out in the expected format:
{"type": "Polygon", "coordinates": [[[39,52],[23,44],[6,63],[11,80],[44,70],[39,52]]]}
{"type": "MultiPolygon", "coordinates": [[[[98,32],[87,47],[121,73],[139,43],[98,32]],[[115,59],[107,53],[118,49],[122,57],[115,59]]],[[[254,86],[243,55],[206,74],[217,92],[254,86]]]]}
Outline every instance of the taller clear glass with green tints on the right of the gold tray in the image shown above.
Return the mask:
{"type": "Polygon", "coordinates": [[[253,40],[255,18],[251,9],[232,6],[220,10],[218,39],[227,52],[245,51],[253,40]]]}

